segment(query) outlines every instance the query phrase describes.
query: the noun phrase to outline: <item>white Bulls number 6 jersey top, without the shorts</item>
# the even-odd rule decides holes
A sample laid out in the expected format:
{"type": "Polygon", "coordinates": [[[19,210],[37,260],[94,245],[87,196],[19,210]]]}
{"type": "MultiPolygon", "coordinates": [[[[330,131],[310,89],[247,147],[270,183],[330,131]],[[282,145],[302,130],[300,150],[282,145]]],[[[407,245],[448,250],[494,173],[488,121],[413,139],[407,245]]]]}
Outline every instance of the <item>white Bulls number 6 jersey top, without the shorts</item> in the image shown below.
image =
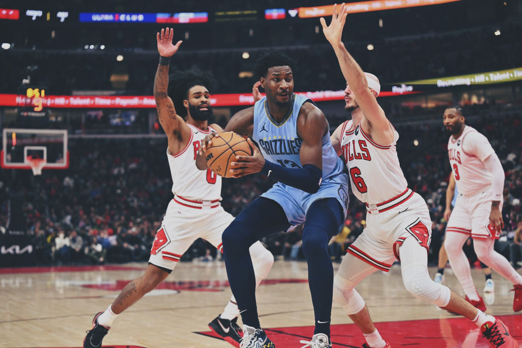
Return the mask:
{"type": "Polygon", "coordinates": [[[353,121],[346,121],[342,126],[341,150],[349,170],[352,192],[367,205],[386,202],[408,190],[397,157],[398,138],[394,129],[393,142],[386,146],[378,145],[360,125],[354,128],[353,121]]]}

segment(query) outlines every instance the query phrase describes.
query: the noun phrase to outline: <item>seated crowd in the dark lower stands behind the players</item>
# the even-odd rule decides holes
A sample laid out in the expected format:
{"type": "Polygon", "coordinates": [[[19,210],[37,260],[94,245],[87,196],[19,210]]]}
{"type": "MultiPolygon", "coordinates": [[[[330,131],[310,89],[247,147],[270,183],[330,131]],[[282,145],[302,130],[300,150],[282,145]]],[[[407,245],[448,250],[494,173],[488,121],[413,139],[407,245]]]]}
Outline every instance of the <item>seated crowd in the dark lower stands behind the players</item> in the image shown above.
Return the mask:
{"type": "MultiPolygon", "coordinates": [[[[468,125],[488,137],[504,166],[505,227],[495,247],[517,268],[522,229],[520,119],[516,112],[493,111],[466,119],[468,125]]],[[[436,122],[395,127],[400,134],[399,160],[409,187],[430,208],[433,235],[429,262],[435,265],[446,224],[443,212],[450,175],[446,150],[449,135],[442,126],[442,116],[436,122]]],[[[67,170],[44,170],[40,176],[33,176],[31,171],[3,170],[0,201],[7,202],[12,191],[22,190],[26,231],[33,240],[39,265],[146,261],[173,197],[166,148],[166,138],[72,138],[67,170]]],[[[261,174],[223,179],[222,205],[237,215],[272,184],[261,174]]],[[[364,205],[350,193],[345,226],[329,246],[333,260],[339,261],[362,232],[365,214],[364,205]]],[[[6,226],[7,215],[6,204],[2,204],[0,226],[6,226]]],[[[263,242],[276,257],[298,260],[303,258],[300,233],[298,227],[263,242]]],[[[182,260],[219,257],[215,248],[198,239],[182,260]]]]}

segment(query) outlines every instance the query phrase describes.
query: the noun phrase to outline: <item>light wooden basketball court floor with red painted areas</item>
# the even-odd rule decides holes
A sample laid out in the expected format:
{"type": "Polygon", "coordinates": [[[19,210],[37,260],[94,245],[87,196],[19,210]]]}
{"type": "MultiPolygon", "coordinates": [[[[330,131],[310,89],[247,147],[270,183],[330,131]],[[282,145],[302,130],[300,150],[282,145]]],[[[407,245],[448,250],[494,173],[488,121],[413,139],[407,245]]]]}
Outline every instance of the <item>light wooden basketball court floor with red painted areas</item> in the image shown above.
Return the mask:
{"type": "MultiPolygon", "coordinates": [[[[0,269],[0,347],[81,347],[94,314],[104,310],[125,284],[140,277],[146,263],[114,266],[0,269]]],[[[338,264],[334,264],[337,269],[338,264]]],[[[433,276],[436,270],[430,269],[433,276]]],[[[472,270],[479,290],[481,270],[472,270]]],[[[522,315],[512,309],[511,283],[493,273],[495,292],[487,313],[499,316],[522,342],[522,315]]],[[[445,284],[462,293],[452,271],[445,284]]],[[[489,347],[469,320],[411,297],[400,267],[378,271],[357,286],[376,327],[392,347],[489,347]]],[[[207,324],[230,298],[224,262],[181,262],[159,289],[118,317],[104,347],[222,347],[207,324]]],[[[276,261],[259,286],[261,325],[277,348],[302,347],[313,334],[313,310],[306,263],[276,261]]],[[[342,308],[332,311],[334,347],[361,347],[361,332],[342,308]]]]}

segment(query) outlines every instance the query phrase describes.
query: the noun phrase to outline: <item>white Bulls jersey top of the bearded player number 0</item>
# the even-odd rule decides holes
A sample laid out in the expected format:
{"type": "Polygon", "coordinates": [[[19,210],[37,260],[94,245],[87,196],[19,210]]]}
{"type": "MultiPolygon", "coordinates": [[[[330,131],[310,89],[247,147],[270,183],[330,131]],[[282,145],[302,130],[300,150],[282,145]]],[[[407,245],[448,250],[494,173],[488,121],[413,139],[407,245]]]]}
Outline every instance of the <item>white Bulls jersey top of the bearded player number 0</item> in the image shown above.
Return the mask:
{"type": "Polygon", "coordinates": [[[172,155],[167,149],[170,173],[172,175],[172,193],[194,201],[216,201],[221,200],[221,176],[213,173],[210,169],[200,171],[196,167],[196,156],[201,146],[201,141],[211,131],[201,130],[193,125],[191,128],[191,139],[180,152],[172,155]]]}

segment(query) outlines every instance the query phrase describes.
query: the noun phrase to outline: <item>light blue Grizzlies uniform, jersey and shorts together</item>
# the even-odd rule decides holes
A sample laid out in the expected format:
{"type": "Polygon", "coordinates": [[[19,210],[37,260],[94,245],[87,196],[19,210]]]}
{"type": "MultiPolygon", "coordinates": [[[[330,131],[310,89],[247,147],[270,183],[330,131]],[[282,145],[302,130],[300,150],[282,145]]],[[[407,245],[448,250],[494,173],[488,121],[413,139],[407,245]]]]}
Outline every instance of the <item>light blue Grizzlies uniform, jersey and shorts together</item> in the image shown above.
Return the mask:
{"type": "MultiPolygon", "coordinates": [[[[266,97],[255,103],[252,138],[258,143],[267,161],[289,168],[303,166],[299,157],[302,140],[297,135],[296,125],[301,106],[306,101],[313,103],[306,97],[292,94],[292,107],[280,123],[270,115],[266,97]]],[[[323,181],[317,193],[309,194],[277,183],[261,196],[278,202],[293,226],[303,223],[310,205],[322,198],[336,198],[346,216],[348,176],[342,173],[342,169],[342,161],[331,145],[330,135],[326,133],[323,137],[323,181]]]]}

